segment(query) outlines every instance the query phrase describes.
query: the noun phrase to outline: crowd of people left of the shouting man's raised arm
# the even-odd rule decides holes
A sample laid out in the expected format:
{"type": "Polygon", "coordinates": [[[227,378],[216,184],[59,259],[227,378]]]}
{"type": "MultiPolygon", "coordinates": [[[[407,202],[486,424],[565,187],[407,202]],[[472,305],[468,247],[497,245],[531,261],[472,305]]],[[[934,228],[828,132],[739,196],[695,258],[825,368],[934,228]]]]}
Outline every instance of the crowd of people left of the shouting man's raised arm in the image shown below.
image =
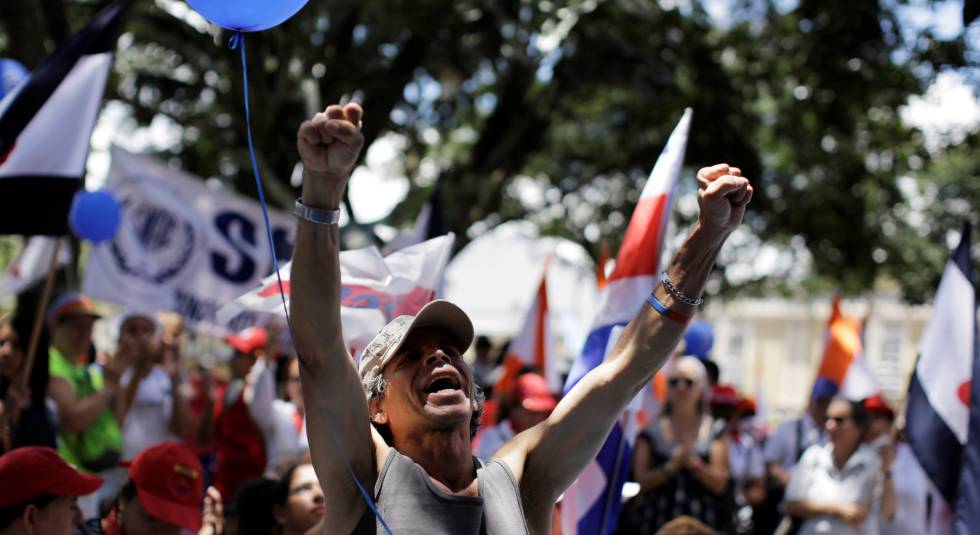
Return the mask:
{"type": "Polygon", "coordinates": [[[265,329],[226,337],[221,379],[188,368],[179,325],[68,294],[24,381],[23,316],[0,320],[0,533],[322,532],[297,361],[265,329]]]}

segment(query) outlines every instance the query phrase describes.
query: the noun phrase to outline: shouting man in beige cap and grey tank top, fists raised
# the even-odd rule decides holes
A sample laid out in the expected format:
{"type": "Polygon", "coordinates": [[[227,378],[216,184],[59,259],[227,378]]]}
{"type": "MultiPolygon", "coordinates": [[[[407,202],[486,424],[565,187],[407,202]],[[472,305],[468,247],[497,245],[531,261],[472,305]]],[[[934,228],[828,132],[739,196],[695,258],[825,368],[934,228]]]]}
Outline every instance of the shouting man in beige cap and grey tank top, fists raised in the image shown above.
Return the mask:
{"type": "Polygon", "coordinates": [[[437,300],[395,318],[356,367],[344,347],[337,210],[364,143],[362,113],[330,106],[297,135],[291,317],[325,516],[335,533],[547,533],[556,499],[676,346],[752,186],[727,164],[698,173],[698,223],[610,357],[484,462],[470,453],[482,397],[461,356],[473,340],[462,310],[437,300]]]}

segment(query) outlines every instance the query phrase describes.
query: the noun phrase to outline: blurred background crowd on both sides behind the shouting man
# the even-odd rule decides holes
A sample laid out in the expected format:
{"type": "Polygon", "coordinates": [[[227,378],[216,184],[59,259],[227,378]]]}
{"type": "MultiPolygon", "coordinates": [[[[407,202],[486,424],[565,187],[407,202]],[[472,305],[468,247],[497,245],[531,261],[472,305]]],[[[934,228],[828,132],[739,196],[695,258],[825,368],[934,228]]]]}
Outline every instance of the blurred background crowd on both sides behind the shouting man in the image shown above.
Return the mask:
{"type": "MultiPolygon", "coordinates": [[[[57,300],[46,316],[47,359],[23,385],[29,333],[16,318],[0,321],[0,533],[53,532],[41,527],[48,521],[85,534],[320,530],[324,496],[295,355],[267,353],[269,333],[246,329],[225,340],[221,380],[189,370],[182,333],[153,312],[108,320],[111,355],[93,347],[96,321],[84,296],[57,300]],[[50,478],[18,475],[38,473],[50,478]]],[[[502,390],[506,346],[493,349],[477,337],[474,380],[487,399],[472,452],[481,459],[559,400],[530,367],[502,390]]],[[[848,401],[820,383],[803,414],[770,432],[751,398],[718,382],[711,360],[678,353],[663,373],[666,397],[636,439],[630,480],[639,492],[623,505],[619,533],[657,533],[678,517],[718,533],[925,529],[926,483],[881,397],[848,401]]]]}

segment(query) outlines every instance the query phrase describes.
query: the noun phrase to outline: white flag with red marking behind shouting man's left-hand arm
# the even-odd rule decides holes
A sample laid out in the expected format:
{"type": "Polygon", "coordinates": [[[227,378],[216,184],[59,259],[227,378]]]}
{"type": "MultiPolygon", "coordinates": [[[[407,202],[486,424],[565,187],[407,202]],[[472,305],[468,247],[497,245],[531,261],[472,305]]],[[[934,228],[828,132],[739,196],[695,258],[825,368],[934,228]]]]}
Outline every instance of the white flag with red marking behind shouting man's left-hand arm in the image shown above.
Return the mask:
{"type": "MultiPolygon", "coordinates": [[[[351,354],[360,354],[396,316],[415,314],[435,299],[454,239],[449,233],[385,257],[376,247],[340,253],[340,318],[351,354]]],[[[287,303],[291,267],[292,262],[280,269],[287,303]]],[[[218,319],[228,322],[243,310],[284,315],[275,274],[222,307],[218,319]]]]}

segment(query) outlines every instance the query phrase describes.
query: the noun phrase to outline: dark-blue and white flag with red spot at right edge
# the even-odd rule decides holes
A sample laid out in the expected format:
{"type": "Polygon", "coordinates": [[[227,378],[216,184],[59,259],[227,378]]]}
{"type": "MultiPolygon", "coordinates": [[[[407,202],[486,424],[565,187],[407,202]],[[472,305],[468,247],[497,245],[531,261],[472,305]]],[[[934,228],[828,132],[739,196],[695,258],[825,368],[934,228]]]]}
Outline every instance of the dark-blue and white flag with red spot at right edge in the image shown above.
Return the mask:
{"type": "Polygon", "coordinates": [[[980,373],[970,228],[946,264],[909,383],[905,432],[958,535],[980,526],[980,373]],[[972,379],[972,380],[971,380],[972,379]]]}

